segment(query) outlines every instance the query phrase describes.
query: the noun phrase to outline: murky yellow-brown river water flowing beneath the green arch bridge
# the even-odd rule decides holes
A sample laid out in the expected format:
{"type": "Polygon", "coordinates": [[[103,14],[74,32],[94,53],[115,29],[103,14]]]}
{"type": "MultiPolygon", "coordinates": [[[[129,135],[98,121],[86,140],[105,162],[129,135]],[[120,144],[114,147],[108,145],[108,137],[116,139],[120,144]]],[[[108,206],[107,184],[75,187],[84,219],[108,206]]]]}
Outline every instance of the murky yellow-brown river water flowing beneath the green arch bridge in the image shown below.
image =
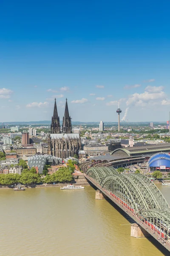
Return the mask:
{"type": "MultiPolygon", "coordinates": [[[[170,203],[170,187],[159,188],[170,203]]],[[[0,256],[168,255],[152,238],[130,237],[124,213],[91,186],[0,189],[0,209],[0,256]]]]}

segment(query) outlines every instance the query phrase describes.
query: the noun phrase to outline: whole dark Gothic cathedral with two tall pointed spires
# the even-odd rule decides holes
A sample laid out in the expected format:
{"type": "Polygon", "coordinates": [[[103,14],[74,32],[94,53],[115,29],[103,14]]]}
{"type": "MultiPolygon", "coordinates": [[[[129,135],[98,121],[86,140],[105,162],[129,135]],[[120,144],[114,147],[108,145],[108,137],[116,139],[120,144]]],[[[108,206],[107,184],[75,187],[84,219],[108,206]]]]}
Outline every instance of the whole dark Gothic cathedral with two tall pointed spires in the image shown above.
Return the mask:
{"type": "Polygon", "coordinates": [[[48,134],[48,154],[64,159],[74,157],[74,154],[78,155],[79,150],[81,150],[80,135],[79,133],[72,134],[67,99],[65,103],[65,114],[63,116],[62,134],[55,99],[54,113],[51,119],[51,134],[48,134]]]}

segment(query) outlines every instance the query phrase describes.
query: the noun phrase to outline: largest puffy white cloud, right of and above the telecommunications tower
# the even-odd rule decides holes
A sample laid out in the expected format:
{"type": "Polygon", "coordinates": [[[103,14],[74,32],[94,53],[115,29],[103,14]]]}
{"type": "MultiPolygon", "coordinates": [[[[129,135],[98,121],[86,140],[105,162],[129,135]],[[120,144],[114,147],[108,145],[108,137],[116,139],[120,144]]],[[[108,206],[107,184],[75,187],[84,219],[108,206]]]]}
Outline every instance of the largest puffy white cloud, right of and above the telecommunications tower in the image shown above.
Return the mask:
{"type": "Polygon", "coordinates": [[[144,93],[134,93],[126,102],[126,105],[136,105],[136,106],[145,106],[148,103],[158,101],[160,99],[166,98],[166,94],[161,91],[159,93],[149,93],[149,92],[144,92],[144,93]]]}

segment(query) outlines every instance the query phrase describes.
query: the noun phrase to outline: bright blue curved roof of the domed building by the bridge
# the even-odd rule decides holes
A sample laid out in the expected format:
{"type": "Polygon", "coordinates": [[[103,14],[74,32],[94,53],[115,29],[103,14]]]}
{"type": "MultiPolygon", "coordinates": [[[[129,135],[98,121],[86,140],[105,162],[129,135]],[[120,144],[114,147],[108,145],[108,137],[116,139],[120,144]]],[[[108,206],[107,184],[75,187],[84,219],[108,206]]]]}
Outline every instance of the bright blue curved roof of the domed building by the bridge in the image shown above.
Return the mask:
{"type": "Polygon", "coordinates": [[[150,157],[148,161],[149,167],[166,166],[170,167],[170,154],[158,153],[150,157]]]}

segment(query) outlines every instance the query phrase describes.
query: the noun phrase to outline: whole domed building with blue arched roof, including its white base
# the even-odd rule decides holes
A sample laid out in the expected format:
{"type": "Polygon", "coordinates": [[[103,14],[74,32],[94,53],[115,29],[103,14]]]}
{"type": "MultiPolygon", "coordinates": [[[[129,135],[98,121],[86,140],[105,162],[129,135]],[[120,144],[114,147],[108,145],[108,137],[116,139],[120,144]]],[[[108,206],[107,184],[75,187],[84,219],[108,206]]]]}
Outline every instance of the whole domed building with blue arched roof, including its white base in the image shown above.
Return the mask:
{"type": "Polygon", "coordinates": [[[170,154],[156,153],[147,162],[150,172],[161,171],[170,172],[170,154]]]}

